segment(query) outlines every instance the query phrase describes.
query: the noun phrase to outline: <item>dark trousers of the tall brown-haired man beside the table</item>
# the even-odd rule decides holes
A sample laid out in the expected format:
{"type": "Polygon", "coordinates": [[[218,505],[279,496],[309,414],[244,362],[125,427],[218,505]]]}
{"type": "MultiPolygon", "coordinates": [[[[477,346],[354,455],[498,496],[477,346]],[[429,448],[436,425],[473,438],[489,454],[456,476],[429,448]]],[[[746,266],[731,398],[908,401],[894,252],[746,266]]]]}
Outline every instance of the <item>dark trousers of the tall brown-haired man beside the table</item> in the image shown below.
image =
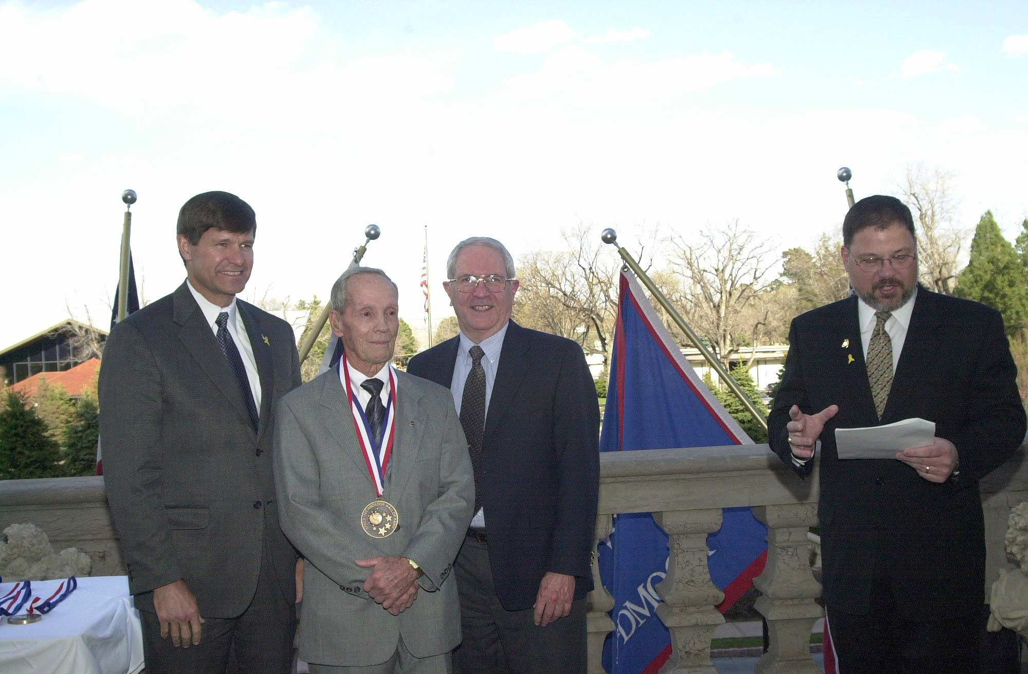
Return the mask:
{"type": "Polygon", "coordinates": [[[199,645],[176,647],[172,638],[160,638],[157,614],[140,611],[143,656],[147,674],[224,674],[229,651],[245,674],[289,674],[293,668],[296,607],[279,589],[271,563],[261,558],[257,591],[238,617],[204,615],[199,645]]]}

